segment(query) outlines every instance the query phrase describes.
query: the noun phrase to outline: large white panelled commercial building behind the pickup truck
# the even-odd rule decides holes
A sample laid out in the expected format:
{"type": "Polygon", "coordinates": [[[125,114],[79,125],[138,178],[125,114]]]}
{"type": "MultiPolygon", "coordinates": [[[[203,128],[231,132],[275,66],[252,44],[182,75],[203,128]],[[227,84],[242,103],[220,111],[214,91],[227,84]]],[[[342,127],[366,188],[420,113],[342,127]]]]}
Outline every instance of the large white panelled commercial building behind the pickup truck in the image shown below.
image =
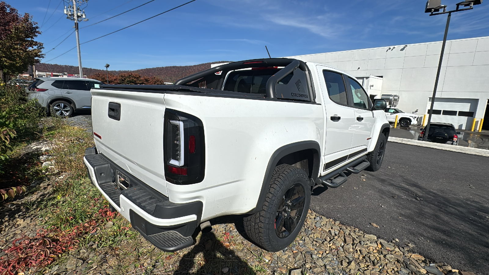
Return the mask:
{"type": "MultiPolygon", "coordinates": [[[[354,75],[370,94],[399,95],[399,109],[428,113],[440,60],[442,42],[290,56],[322,63],[354,75]]],[[[433,108],[433,122],[449,122],[458,129],[489,130],[489,37],[446,42],[433,108]]],[[[427,119],[426,119],[427,120],[427,119]]],[[[421,120],[420,120],[421,123],[421,120]]]]}

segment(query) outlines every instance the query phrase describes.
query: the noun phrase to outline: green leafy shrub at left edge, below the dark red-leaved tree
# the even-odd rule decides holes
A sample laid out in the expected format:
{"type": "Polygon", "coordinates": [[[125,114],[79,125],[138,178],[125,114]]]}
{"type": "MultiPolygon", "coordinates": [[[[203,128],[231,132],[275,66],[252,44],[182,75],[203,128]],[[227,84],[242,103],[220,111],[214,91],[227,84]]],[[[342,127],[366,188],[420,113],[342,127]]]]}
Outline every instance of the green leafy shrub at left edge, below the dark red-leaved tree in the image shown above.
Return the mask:
{"type": "Polygon", "coordinates": [[[12,141],[37,135],[43,113],[24,89],[0,84],[0,173],[12,141]]]}

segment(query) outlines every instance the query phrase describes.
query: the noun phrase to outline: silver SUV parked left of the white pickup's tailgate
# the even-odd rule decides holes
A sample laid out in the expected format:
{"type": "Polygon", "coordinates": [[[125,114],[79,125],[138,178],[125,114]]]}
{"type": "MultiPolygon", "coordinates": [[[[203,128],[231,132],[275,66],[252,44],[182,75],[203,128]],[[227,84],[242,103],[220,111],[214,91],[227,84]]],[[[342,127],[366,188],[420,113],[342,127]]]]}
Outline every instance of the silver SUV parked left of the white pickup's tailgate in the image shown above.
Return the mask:
{"type": "Polygon", "coordinates": [[[39,77],[25,88],[29,99],[37,99],[50,114],[71,116],[75,110],[91,108],[91,88],[102,82],[88,78],[39,77]]]}

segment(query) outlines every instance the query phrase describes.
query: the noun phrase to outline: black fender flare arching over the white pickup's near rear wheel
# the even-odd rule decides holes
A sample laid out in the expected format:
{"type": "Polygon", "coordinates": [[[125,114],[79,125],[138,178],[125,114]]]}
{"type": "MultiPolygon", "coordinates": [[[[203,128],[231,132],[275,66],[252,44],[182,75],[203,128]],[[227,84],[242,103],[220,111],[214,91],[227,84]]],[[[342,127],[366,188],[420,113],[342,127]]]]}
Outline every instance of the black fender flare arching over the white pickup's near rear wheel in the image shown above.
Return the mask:
{"type": "Polygon", "coordinates": [[[321,156],[321,147],[319,146],[319,143],[314,140],[306,140],[284,145],[275,150],[275,152],[270,157],[270,160],[268,160],[267,170],[265,171],[265,177],[262,183],[262,189],[260,190],[260,196],[258,197],[256,206],[253,209],[249,210],[247,212],[248,214],[256,213],[262,209],[262,206],[265,202],[265,197],[268,192],[268,187],[270,186],[272,173],[275,169],[275,166],[277,166],[278,161],[291,153],[308,149],[312,149],[313,151],[315,151],[313,154],[314,163],[312,164],[311,178],[313,181],[316,180],[317,176],[319,175],[319,164],[321,156]]]}

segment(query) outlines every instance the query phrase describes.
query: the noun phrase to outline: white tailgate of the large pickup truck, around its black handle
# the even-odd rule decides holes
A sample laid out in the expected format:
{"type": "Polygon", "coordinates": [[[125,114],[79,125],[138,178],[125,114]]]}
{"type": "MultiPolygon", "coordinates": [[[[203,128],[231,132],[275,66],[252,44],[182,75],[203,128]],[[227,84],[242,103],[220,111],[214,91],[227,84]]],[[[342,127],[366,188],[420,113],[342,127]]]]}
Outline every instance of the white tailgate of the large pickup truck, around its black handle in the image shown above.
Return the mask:
{"type": "Polygon", "coordinates": [[[91,93],[97,149],[126,172],[167,196],[163,161],[164,93],[103,89],[92,89],[91,93]],[[109,108],[114,106],[120,106],[119,120],[109,116],[109,108]]]}

